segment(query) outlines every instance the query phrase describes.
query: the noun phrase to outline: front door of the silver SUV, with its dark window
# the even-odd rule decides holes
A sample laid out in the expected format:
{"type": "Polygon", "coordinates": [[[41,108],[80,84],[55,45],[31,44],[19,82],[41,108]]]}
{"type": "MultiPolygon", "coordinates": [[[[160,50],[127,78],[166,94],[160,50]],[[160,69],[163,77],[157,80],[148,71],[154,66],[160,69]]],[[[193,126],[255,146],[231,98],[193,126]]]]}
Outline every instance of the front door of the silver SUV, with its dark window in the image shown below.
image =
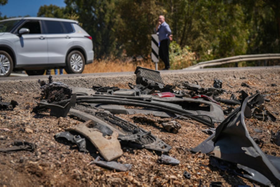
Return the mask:
{"type": "Polygon", "coordinates": [[[48,45],[42,34],[40,20],[26,20],[18,29],[27,28],[29,33],[18,36],[15,40],[17,65],[48,64],[48,45]]]}

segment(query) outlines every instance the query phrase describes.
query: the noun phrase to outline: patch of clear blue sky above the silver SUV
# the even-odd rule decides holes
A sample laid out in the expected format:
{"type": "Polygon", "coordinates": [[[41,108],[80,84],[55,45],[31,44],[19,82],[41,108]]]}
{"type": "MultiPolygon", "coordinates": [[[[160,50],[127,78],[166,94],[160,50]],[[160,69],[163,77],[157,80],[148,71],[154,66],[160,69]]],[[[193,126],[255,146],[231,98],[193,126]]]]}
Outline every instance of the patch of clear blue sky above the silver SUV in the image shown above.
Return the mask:
{"type": "Polygon", "coordinates": [[[6,5],[0,5],[1,16],[18,17],[18,16],[37,16],[40,6],[56,5],[65,7],[64,0],[8,0],[6,5]]]}

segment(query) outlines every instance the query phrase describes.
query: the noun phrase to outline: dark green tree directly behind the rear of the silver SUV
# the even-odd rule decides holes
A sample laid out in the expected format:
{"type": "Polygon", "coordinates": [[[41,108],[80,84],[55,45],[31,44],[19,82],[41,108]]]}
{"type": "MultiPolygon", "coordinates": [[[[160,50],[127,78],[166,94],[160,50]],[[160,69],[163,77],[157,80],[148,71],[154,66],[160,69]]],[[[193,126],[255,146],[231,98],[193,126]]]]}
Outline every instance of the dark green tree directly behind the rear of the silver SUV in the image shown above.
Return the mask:
{"type": "Polygon", "coordinates": [[[92,36],[96,58],[116,55],[117,9],[114,0],[65,0],[68,13],[79,15],[79,22],[92,36]]]}

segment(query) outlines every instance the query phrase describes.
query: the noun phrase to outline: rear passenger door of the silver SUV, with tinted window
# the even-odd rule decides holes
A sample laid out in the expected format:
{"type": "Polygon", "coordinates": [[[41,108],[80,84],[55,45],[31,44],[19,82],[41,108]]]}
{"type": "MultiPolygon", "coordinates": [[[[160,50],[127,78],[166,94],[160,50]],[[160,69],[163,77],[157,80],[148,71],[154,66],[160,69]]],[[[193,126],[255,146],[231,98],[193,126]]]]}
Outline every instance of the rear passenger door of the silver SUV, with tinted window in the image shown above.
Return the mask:
{"type": "Polygon", "coordinates": [[[49,65],[65,65],[67,51],[73,46],[70,33],[62,21],[44,20],[43,22],[48,43],[49,65]]]}

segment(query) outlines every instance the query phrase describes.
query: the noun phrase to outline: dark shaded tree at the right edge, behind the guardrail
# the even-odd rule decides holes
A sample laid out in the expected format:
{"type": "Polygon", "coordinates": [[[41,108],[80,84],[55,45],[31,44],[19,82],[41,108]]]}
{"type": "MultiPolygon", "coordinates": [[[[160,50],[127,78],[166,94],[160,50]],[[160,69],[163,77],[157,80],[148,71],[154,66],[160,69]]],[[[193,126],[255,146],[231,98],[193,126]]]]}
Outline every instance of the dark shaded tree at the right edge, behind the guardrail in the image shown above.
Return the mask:
{"type": "Polygon", "coordinates": [[[280,2],[276,0],[236,1],[244,7],[250,24],[247,53],[280,52],[280,2]]]}

